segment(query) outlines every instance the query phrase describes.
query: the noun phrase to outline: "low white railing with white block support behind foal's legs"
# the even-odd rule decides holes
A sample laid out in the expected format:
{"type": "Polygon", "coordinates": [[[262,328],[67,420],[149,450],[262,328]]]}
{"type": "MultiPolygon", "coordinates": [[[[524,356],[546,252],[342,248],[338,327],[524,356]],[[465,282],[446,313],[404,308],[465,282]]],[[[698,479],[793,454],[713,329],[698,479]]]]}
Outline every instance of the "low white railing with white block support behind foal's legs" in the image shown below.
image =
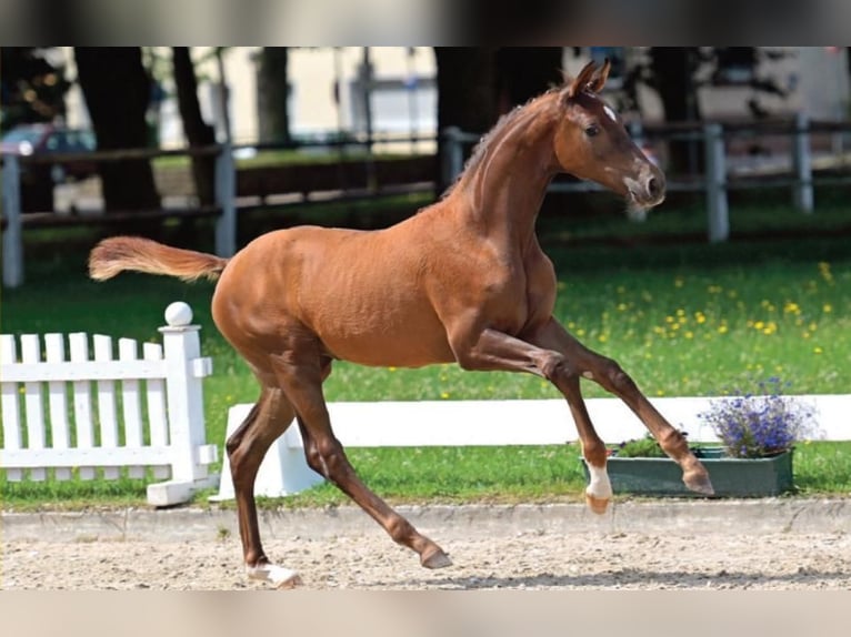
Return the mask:
{"type": "MultiPolygon", "coordinates": [[[[851,439],[851,394],[802,395],[797,401],[813,408],[819,439],[851,439]]],[[[711,397],[651,398],[651,403],[692,442],[718,437],[699,414],[711,397]]],[[[600,436],[609,443],[640,438],[647,429],[618,398],[585,401],[600,436]]],[[[239,427],[251,405],[234,405],[228,414],[228,435],[239,427]]],[[[568,405],[544,401],[422,401],[329,403],[334,435],[344,447],[559,445],[577,441],[568,405]]],[[[567,453],[567,452],[565,452],[567,453]]],[[[577,449],[577,455],[579,451],[577,449]]],[[[224,458],[222,475],[230,475],[224,458]]],[[[322,478],[304,461],[299,428],[291,426],[263,458],[254,493],[267,497],[292,495],[322,478]]],[[[222,479],[211,499],[233,498],[233,485],[222,479]]]]}

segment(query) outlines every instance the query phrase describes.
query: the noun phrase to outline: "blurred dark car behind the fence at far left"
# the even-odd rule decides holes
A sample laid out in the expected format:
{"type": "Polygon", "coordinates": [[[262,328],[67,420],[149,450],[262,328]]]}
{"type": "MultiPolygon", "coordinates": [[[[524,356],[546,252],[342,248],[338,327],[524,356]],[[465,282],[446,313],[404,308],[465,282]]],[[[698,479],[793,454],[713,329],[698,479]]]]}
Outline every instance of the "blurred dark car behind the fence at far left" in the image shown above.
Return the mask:
{"type": "MultiPolygon", "coordinates": [[[[40,154],[84,154],[97,150],[94,133],[57,124],[23,124],[0,139],[0,153],[34,156],[40,154]]],[[[24,212],[53,210],[53,186],[69,180],[97,174],[94,161],[80,159],[59,163],[21,165],[21,209],[24,212]]]]}

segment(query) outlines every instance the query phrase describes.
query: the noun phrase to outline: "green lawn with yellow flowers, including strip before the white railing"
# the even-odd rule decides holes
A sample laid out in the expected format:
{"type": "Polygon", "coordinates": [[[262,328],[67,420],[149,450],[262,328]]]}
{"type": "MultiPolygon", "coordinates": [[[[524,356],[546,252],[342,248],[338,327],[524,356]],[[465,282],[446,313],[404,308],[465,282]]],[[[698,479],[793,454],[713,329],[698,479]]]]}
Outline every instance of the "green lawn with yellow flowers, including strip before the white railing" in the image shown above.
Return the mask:
{"type": "MultiPolygon", "coordinates": [[[[744,206],[731,212],[734,232],[783,226],[800,235],[771,241],[744,235],[720,245],[659,241],[675,228],[702,228],[694,214],[674,209],[658,220],[651,215],[643,226],[611,215],[560,223],[552,215],[542,219],[543,242],[559,276],[557,316],[587,345],[617,358],[650,396],[712,395],[768,376],[790,381],[791,393],[847,393],[851,241],[842,229],[851,213],[832,206],[804,219],[782,208],[744,206]],[[819,223],[833,234],[808,235],[819,223]]],[[[138,274],[97,284],[84,273],[93,237],[79,229],[27,236],[28,283],[3,292],[1,331],[86,331],[156,341],[164,307],[188,302],[202,325],[202,351],[213,358],[204,411],[208,439],[221,448],[228,408],[252,402],[257,386],[212,325],[212,286],[138,274]],[[60,244],[57,236],[68,241],[60,244]]],[[[605,395],[593,383],[583,388],[588,396],[605,395]]],[[[334,365],[326,394],[331,401],[558,396],[529,375],[467,373],[454,365],[368,370],[347,363],[334,365]]],[[[599,425],[605,437],[604,423],[599,425]]],[[[802,493],[851,492],[848,444],[805,449],[814,455],[802,451],[795,457],[802,493]]],[[[571,448],[351,449],[350,456],[367,483],[391,499],[571,498],[581,491],[571,448]],[[469,476],[450,472],[461,467],[469,467],[469,476]]],[[[8,505],[143,501],[141,483],[106,483],[13,485],[0,477],[8,505]]],[[[344,498],[328,486],[292,498],[294,504],[336,502],[344,498]]]]}

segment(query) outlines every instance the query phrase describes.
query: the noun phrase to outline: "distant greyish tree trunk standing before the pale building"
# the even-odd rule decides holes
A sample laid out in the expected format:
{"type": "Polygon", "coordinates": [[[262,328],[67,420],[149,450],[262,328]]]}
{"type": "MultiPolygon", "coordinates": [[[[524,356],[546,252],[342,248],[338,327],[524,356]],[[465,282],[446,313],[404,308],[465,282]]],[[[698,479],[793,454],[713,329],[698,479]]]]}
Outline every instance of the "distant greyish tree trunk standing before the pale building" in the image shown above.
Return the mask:
{"type": "Polygon", "coordinates": [[[258,70],[258,124],[261,142],[290,141],[290,114],[287,47],[263,47],[258,70]]]}

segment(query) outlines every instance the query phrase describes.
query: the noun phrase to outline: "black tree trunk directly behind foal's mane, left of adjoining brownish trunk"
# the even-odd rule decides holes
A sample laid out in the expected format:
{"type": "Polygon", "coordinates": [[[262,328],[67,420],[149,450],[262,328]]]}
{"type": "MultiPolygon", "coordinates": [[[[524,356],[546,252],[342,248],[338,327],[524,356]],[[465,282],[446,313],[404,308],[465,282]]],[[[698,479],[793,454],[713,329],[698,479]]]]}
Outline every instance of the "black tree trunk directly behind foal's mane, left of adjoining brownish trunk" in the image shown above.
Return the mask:
{"type": "MultiPolygon", "coordinates": [[[[494,47],[434,47],[438,69],[438,132],[458,127],[468,133],[484,133],[497,121],[494,47]]],[[[444,183],[440,158],[443,142],[438,139],[438,191],[444,183]]],[[[470,146],[464,154],[470,154],[470,146]]]]}

